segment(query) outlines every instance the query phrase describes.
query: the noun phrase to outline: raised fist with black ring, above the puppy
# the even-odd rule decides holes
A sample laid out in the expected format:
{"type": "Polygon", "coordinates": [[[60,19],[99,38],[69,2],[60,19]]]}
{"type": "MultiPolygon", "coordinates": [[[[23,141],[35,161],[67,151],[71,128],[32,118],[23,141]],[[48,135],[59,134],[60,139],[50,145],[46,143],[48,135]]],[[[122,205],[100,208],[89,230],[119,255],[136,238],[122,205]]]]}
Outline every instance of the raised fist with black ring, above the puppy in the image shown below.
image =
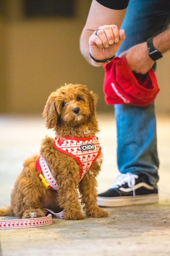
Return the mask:
{"type": "Polygon", "coordinates": [[[117,53],[124,39],[124,30],[118,30],[116,25],[101,26],[97,36],[94,31],[89,38],[90,54],[97,60],[110,59],[117,53]]]}

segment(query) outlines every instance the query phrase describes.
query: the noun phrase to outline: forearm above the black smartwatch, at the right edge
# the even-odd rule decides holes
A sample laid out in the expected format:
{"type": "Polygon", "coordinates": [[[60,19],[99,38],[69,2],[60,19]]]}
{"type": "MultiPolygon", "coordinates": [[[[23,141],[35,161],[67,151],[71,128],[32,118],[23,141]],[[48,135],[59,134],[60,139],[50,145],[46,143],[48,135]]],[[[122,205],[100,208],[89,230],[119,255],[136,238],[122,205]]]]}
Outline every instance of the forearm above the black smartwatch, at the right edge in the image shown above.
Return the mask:
{"type": "Polygon", "coordinates": [[[170,49],[170,28],[153,38],[153,45],[156,50],[165,53],[170,49]]]}

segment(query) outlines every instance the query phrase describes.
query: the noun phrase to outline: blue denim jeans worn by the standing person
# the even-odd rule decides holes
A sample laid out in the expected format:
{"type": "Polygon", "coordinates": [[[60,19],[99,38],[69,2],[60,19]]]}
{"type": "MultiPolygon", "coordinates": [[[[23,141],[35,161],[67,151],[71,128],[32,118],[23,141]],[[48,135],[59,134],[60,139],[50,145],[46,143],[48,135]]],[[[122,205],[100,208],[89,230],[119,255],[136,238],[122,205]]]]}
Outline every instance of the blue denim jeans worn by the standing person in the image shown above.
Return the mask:
{"type": "MultiPolygon", "coordinates": [[[[116,56],[168,29],[169,0],[130,0],[121,28],[126,39],[116,56]]],[[[145,173],[155,186],[159,159],[154,102],[147,107],[116,104],[117,164],[121,173],[145,173]]]]}

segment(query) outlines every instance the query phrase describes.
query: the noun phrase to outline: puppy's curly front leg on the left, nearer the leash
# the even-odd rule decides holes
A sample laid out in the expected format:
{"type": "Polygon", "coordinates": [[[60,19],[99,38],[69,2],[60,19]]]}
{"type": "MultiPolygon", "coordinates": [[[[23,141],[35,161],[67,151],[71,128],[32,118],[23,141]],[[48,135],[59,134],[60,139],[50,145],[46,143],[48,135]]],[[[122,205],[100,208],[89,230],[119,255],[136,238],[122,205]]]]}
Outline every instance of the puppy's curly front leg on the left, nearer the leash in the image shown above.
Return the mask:
{"type": "Polygon", "coordinates": [[[81,220],[84,219],[81,213],[81,206],[79,203],[79,195],[77,192],[77,185],[79,177],[75,177],[73,173],[68,172],[67,177],[60,174],[61,183],[58,190],[58,204],[64,208],[63,219],[66,220],[81,220]]]}

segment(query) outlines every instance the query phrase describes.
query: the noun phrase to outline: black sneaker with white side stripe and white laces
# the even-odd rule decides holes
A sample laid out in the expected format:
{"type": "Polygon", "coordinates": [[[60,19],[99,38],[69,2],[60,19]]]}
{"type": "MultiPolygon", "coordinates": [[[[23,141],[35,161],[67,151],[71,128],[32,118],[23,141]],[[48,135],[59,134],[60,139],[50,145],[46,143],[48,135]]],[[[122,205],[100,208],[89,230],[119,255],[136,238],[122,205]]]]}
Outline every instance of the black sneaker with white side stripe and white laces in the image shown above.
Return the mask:
{"type": "Polygon", "coordinates": [[[109,190],[97,196],[97,205],[105,207],[158,202],[158,190],[146,174],[120,174],[109,190]]]}

